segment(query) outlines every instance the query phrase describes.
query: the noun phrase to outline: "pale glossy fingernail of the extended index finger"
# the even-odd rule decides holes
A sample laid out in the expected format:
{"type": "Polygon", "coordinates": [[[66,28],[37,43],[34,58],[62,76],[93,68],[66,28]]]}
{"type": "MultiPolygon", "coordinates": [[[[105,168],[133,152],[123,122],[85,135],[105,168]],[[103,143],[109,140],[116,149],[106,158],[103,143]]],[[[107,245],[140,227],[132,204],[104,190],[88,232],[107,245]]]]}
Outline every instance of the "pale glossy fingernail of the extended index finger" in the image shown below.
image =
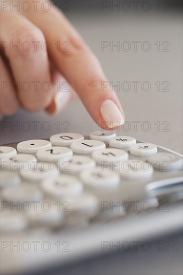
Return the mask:
{"type": "Polygon", "coordinates": [[[100,106],[100,113],[104,121],[107,121],[107,126],[113,128],[124,123],[124,117],[118,109],[117,105],[110,99],[106,99],[100,106]]]}

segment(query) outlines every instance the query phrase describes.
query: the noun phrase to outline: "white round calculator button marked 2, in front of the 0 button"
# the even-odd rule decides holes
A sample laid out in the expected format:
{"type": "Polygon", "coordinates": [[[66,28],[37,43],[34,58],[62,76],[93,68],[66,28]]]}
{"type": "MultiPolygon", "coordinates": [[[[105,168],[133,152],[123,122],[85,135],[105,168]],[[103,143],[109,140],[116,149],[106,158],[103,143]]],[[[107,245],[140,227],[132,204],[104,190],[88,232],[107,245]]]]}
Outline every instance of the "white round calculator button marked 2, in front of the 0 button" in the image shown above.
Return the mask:
{"type": "Polygon", "coordinates": [[[40,149],[36,152],[38,160],[42,161],[56,161],[59,159],[66,159],[72,157],[72,151],[67,147],[53,146],[49,149],[40,149]]]}

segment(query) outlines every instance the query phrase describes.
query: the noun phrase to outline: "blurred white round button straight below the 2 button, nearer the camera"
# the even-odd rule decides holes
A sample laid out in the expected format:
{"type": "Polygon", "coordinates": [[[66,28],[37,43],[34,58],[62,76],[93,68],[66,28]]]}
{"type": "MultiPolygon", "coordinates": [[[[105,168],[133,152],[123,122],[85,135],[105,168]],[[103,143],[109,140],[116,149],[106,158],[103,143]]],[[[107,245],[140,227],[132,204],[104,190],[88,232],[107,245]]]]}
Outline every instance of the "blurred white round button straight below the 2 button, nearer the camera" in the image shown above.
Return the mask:
{"type": "Polygon", "coordinates": [[[61,199],[65,195],[78,195],[83,190],[83,184],[76,176],[64,174],[54,179],[43,179],[41,187],[48,196],[54,199],[61,199]]]}

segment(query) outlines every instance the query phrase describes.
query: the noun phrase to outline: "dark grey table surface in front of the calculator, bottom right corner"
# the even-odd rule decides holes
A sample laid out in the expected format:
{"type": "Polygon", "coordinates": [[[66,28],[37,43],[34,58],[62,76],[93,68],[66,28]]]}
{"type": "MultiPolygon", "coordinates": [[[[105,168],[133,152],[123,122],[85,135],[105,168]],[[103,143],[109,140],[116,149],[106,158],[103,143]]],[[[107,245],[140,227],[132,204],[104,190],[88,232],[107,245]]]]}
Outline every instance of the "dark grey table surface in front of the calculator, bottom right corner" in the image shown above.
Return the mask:
{"type": "MultiPolygon", "coordinates": [[[[150,249],[108,252],[65,267],[56,266],[39,275],[178,275],[182,274],[182,233],[148,240],[150,249]],[[167,241],[168,251],[157,251],[155,243],[167,241]]],[[[34,274],[31,274],[34,275],[34,274]]],[[[36,273],[37,275],[37,273],[36,273]]]]}

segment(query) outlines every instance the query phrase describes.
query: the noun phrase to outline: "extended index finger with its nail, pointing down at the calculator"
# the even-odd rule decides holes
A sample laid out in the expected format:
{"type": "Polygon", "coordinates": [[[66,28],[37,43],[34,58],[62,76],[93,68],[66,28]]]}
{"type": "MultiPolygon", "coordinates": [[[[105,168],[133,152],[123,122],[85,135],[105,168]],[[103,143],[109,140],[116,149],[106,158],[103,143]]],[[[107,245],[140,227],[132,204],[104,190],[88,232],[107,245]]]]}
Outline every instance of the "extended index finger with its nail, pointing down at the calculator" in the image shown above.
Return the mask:
{"type": "Polygon", "coordinates": [[[39,10],[33,16],[31,12],[28,16],[51,45],[49,55],[52,61],[75,89],[91,117],[102,128],[121,125],[124,113],[120,102],[99,61],[74,27],[56,8],[48,12],[39,10]]]}

